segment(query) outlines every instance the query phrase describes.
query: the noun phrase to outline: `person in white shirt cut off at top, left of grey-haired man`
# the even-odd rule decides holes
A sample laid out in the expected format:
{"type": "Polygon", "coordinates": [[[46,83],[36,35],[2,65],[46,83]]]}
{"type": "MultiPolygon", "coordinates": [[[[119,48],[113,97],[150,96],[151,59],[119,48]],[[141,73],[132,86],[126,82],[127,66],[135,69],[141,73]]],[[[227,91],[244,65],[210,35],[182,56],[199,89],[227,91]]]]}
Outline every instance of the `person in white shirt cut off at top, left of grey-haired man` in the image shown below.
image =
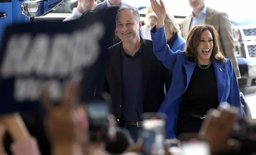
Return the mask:
{"type": "Polygon", "coordinates": [[[63,21],[71,21],[81,17],[88,10],[93,10],[97,5],[97,0],[78,0],[78,7],[73,9],[73,12],[63,21]]]}

